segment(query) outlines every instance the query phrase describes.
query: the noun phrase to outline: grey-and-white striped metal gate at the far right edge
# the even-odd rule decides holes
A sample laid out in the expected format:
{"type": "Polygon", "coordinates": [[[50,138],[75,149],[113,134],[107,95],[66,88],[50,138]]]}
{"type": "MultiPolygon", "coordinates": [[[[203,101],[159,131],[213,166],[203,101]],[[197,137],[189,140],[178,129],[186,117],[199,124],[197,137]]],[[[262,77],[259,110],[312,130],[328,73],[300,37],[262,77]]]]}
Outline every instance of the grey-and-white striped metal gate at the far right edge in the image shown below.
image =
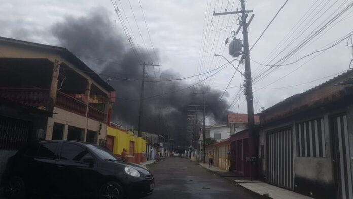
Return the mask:
{"type": "Polygon", "coordinates": [[[333,118],[339,198],[353,198],[353,171],[350,165],[347,116],[333,118]]]}

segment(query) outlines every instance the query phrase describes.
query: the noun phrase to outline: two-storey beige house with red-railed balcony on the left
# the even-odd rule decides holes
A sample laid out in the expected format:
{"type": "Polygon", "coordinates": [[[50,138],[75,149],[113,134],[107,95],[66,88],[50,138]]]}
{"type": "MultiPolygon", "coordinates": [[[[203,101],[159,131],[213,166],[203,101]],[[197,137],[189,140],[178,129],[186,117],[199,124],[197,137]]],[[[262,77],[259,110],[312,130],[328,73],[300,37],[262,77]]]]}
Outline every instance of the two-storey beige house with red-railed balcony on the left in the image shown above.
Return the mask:
{"type": "Polygon", "coordinates": [[[0,37],[0,96],[51,112],[46,140],[105,145],[114,89],[66,48],[0,37]]]}

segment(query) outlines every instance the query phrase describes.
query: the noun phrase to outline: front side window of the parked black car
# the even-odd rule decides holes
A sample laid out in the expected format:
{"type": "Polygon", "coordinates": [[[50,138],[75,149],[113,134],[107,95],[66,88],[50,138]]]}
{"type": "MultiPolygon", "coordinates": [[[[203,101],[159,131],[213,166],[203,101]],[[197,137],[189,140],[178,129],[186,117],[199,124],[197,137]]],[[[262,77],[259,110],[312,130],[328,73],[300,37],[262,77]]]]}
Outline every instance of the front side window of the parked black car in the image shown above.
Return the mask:
{"type": "Polygon", "coordinates": [[[80,161],[86,154],[87,150],[71,143],[63,143],[60,159],[80,161]]]}

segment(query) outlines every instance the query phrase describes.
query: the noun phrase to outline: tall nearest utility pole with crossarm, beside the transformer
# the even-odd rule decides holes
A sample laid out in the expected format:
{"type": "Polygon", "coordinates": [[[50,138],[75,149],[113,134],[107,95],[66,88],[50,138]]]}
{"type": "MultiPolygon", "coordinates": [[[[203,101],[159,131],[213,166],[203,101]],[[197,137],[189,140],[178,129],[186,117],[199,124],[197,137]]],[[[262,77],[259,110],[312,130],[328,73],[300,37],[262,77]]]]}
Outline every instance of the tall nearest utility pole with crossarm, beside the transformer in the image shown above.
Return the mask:
{"type": "MultiPolygon", "coordinates": [[[[228,15],[228,14],[241,14],[241,24],[237,30],[239,32],[242,26],[243,34],[243,59],[245,62],[245,91],[246,91],[246,105],[248,109],[248,135],[249,135],[249,155],[250,159],[255,160],[255,142],[254,142],[254,107],[253,107],[253,88],[252,88],[252,79],[251,79],[251,68],[250,68],[250,52],[249,52],[249,39],[248,39],[248,26],[251,20],[254,17],[254,14],[251,16],[249,22],[246,22],[248,13],[253,12],[252,10],[245,9],[245,0],[240,0],[241,10],[233,12],[223,12],[223,13],[214,13],[214,16],[218,15],[228,15]]],[[[252,167],[250,163],[250,179],[252,180],[252,171],[255,171],[255,167],[252,167]]]]}

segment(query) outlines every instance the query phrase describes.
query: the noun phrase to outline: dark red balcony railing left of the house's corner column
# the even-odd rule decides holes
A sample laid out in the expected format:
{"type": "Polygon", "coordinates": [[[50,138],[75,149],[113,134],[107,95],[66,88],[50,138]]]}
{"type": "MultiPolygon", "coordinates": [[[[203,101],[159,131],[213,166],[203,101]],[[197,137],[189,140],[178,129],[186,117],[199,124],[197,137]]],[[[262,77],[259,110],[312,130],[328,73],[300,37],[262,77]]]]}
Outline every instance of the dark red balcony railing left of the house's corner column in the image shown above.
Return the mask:
{"type": "Polygon", "coordinates": [[[0,88],[0,97],[33,107],[47,106],[49,90],[40,88],[0,88]]]}

